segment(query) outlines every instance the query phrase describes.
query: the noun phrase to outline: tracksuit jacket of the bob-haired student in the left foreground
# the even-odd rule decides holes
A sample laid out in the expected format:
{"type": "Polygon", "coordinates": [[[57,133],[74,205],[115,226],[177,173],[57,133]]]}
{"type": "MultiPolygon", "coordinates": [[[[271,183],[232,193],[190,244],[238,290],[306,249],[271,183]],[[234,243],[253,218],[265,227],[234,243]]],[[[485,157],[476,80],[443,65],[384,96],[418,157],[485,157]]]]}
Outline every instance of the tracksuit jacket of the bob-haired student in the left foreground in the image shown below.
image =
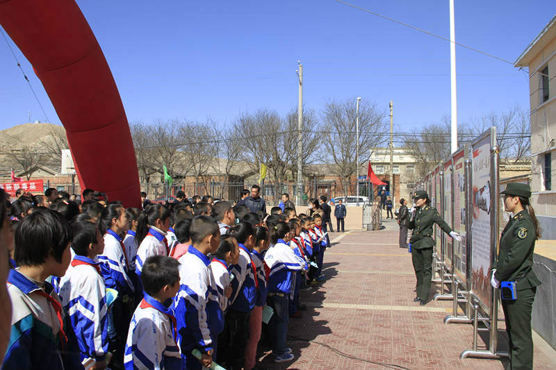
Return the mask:
{"type": "Polygon", "coordinates": [[[8,294],[12,301],[12,325],[1,368],[83,369],[72,325],[52,286],[44,283],[41,289],[15,269],[8,273],[8,294]],[[54,305],[41,294],[59,303],[63,326],[54,305]]]}

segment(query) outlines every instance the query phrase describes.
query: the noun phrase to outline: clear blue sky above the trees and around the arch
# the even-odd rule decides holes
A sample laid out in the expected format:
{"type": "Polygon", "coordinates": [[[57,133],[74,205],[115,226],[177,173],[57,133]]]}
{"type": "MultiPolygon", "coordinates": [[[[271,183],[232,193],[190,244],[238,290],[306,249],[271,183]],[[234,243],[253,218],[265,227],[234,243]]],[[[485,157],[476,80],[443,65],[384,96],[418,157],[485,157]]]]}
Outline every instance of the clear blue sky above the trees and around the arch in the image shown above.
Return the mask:
{"type": "MultiPolygon", "coordinates": [[[[450,114],[450,45],[334,0],[77,1],[97,36],[130,122],[212,117],[362,96],[388,110],[398,131],[450,114]]],[[[448,0],[348,0],[449,37],[448,0]]],[[[556,13],[556,1],[456,1],[456,40],[514,62],[556,13]]],[[[31,65],[10,40],[47,115],[56,111],[31,65]]],[[[459,121],[519,105],[528,76],[505,62],[457,47],[459,121]]],[[[0,38],[0,129],[46,121],[0,38]]]]}

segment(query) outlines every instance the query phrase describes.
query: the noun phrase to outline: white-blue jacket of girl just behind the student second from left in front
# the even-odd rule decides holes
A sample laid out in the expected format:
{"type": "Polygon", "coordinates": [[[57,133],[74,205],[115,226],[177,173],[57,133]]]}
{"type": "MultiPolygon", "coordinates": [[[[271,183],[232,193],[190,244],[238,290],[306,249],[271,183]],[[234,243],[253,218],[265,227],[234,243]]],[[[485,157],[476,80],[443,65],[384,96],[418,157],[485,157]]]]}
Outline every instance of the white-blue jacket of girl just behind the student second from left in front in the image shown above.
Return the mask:
{"type": "Polygon", "coordinates": [[[97,255],[97,260],[104,263],[101,267],[104,285],[116,289],[120,296],[131,295],[135,291],[127,274],[126,257],[122,249],[122,238],[108,229],[104,234],[104,252],[97,255]]]}

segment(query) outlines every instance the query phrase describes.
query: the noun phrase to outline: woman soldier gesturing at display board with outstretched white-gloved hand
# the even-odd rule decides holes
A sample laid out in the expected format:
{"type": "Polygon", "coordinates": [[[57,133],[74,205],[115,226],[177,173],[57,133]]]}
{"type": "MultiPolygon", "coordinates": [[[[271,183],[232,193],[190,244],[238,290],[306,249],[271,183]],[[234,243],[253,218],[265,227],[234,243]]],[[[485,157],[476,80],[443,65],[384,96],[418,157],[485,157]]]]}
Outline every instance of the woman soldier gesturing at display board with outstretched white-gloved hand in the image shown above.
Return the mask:
{"type": "Polygon", "coordinates": [[[432,238],[434,224],[440,226],[445,233],[450,234],[454,239],[461,240],[461,238],[440,217],[436,208],[431,207],[427,192],[416,192],[414,200],[416,208],[411,208],[408,225],[413,230],[409,242],[411,243],[411,259],[417,278],[417,296],[414,301],[420,301],[420,305],[425,305],[429,298],[432,279],[432,249],[436,244],[432,238]]]}

